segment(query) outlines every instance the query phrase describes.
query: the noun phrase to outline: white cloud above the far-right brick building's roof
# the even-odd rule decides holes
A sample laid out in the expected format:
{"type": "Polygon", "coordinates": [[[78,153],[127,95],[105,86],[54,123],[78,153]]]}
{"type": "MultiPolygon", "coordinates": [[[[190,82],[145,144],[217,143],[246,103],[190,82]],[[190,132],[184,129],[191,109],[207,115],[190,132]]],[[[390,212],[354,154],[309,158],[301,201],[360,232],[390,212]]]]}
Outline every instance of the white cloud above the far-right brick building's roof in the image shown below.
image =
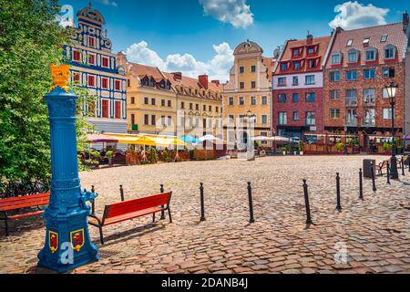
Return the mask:
{"type": "Polygon", "coordinates": [[[329,26],[333,28],[341,26],[344,29],[354,29],[364,26],[385,25],[384,17],[389,11],[387,8],[349,1],[334,7],[334,12],[338,13],[338,15],[329,23],[329,26]]]}

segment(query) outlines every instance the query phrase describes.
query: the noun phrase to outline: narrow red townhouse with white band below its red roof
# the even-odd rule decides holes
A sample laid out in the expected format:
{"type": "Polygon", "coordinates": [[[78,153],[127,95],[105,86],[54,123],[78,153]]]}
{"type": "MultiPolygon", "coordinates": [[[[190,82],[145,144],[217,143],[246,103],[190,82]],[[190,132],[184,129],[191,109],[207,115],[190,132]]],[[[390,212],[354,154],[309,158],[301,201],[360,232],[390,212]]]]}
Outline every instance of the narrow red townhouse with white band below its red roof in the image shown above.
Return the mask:
{"type": "Polygon", "coordinates": [[[323,132],[323,64],[330,36],[289,40],[273,69],[272,123],[279,136],[323,132]]]}

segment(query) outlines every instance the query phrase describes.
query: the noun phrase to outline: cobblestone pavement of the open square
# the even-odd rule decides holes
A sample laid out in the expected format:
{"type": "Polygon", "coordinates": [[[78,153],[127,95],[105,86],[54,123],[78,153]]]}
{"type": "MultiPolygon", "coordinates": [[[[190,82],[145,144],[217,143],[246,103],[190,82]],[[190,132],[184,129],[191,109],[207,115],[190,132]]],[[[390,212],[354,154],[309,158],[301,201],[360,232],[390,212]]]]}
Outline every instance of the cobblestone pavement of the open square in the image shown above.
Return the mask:
{"type": "MultiPolygon", "coordinates": [[[[173,191],[173,224],[150,216],[105,228],[100,261],[73,273],[409,273],[410,173],[378,191],[358,170],[364,156],[261,158],[256,162],[181,162],[81,173],[96,185],[97,214],[105,203],[173,191]],[[341,173],[341,213],[335,210],[335,173],[341,173]],[[314,225],[306,228],[302,179],[309,184],[314,225]],[[254,187],[255,224],[248,224],[247,182],[254,187]],[[207,221],[200,223],[199,184],[207,221]],[[346,255],[343,254],[345,250],[346,255]],[[344,257],[343,257],[344,256],[344,257]],[[345,260],[340,263],[336,259],[345,260]]],[[[381,162],[384,157],[374,157],[381,162]]],[[[97,228],[91,236],[99,245],[97,228]]],[[[44,223],[31,218],[0,231],[0,272],[47,273],[36,268],[44,223]]]]}

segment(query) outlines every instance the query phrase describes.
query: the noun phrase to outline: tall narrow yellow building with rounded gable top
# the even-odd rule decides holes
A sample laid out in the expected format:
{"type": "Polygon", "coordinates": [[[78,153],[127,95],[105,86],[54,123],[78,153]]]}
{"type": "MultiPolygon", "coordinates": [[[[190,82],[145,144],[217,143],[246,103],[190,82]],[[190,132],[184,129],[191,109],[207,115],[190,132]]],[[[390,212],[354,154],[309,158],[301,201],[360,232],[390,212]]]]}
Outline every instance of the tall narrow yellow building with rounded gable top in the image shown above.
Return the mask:
{"type": "MultiPolygon", "coordinates": [[[[230,148],[236,141],[246,142],[243,135],[248,125],[244,120],[255,117],[254,136],[272,136],[272,67],[273,57],[264,57],[262,48],[249,40],[235,48],[230,79],[224,86],[224,140],[230,148]],[[241,136],[241,137],[240,137],[241,136]]],[[[261,141],[261,146],[269,146],[261,141]]]]}

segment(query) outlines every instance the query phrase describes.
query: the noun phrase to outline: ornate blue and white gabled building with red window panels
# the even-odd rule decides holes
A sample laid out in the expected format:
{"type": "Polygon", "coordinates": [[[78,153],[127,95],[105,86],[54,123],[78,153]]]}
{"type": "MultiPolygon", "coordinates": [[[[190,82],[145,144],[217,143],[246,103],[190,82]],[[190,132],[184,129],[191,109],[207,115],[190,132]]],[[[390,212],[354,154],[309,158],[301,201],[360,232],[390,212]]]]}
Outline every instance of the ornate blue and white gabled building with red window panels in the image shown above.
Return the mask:
{"type": "Polygon", "coordinates": [[[73,46],[64,46],[72,82],[86,88],[94,102],[82,102],[83,114],[97,131],[127,133],[127,79],[112,53],[104,17],[91,5],[77,12],[70,27],[73,46]]]}

